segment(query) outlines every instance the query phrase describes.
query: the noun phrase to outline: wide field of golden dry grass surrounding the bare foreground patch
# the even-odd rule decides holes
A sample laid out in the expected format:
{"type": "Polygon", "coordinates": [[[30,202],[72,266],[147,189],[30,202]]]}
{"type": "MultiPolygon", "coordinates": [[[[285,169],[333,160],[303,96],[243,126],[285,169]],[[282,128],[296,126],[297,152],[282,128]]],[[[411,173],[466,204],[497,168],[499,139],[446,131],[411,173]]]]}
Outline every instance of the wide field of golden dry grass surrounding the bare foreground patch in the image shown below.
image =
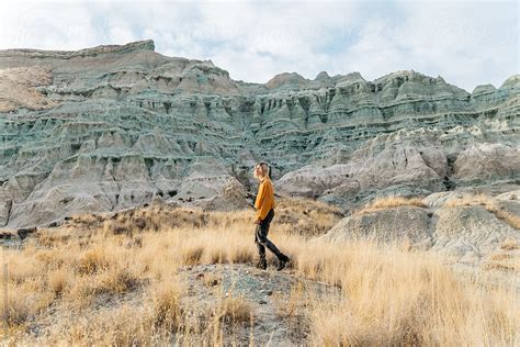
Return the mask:
{"type": "MultiPolygon", "coordinates": [[[[212,316],[186,316],[182,298],[189,279],[181,278],[178,269],[210,262],[251,264],[257,257],[253,213],[180,209],[174,216],[181,221],[170,221],[169,226],[156,230],[154,223],[167,215],[165,211],[157,213],[160,215],[146,211],[123,215],[143,217],[150,225],[124,234],[113,233],[110,222],[90,215],[92,224],[81,224],[81,232],[75,232],[76,224],[42,231],[23,250],[4,250],[10,268],[9,323],[20,331],[14,343],[213,345],[224,342],[226,324],[251,324],[256,312],[244,298],[222,295],[212,316]],[[196,225],[194,221],[199,221],[196,225]],[[176,223],[180,226],[173,226],[176,223]],[[63,237],[65,233],[69,237],[63,237]],[[26,334],[32,322],[48,317],[49,309],[60,307],[58,312],[68,315],[54,314],[45,335],[35,340],[26,334]]],[[[278,216],[270,238],[289,253],[292,271],[340,290],[340,295],[331,291],[324,298],[296,287],[289,300],[281,302],[281,320],[308,317],[307,343],[518,343],[520,317],[515,307],[520,301],[507,289],[457,278],[442,266],[442,259],[420,253],[366,242],[310,244],[308,236],[278,224],[278,216]]],[[[111,215],[106,217],[111,221],[111,215]]],[[[324,219],[320,223],[329,222],[324,219]]],[[[509,260],[494,261],[508,265],[509,260]]],[[[211,275],[204,280],[207,287],[218,288],[221,282],[211,275]]]]}

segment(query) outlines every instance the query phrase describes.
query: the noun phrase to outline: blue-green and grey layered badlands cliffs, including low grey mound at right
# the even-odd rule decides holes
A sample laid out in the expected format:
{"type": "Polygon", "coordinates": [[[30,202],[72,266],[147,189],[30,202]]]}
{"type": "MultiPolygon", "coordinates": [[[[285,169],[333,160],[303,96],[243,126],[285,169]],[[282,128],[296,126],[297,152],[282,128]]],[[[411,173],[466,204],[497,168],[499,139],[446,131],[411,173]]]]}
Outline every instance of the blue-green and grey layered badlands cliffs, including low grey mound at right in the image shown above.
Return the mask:
{"type": "Polygon", "coordinates": [[[152,201],[248,208],[252,166],[267,160],[281,195],[343,211],[324,237],[383,230],[461,256],[520,239],[496,213],[520,215],[519,75],[471,93],[414,70],[262,85],[154,49],[0,51],[0,227],[152,201]],[[467,193],[495,212],[444,205],[467,193]],[[425,205],[350,215],[386,195],[425,205]]]}

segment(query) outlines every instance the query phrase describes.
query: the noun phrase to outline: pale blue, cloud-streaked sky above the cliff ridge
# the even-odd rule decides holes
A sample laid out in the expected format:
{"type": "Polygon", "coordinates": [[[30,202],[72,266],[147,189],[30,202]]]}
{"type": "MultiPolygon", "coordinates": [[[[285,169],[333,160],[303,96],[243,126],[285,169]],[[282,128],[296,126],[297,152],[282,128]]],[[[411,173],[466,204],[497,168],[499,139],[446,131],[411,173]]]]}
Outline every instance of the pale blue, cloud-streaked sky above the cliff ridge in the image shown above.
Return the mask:
{"type": "Polygon", "coordinates": [[[467,91],[520,74],[519,1],[0,2],[0,49],[71,51],[151,38],[235,80],[282,72],[374,80],[416,70],[467,91]]]}

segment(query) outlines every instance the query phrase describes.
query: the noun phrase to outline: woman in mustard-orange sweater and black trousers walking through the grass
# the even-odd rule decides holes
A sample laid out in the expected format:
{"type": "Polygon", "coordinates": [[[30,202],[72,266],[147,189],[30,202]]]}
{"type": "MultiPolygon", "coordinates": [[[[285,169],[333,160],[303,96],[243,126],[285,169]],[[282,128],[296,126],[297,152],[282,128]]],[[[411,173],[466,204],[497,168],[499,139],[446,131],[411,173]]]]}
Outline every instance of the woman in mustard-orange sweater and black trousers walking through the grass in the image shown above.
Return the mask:
{"type": "Polygon", "coordinates": [[[257,164],[255,166],[253,176],[260,180],[257,200],[255,201],[255,209],[257,209],[257,217],[255,220],[255,224],[257,224],[255,243],[257,244],[258,253],[260,255],[260,261],[257,267],[263,270],[268,268],[268,261],[265,260],[265,247],[268,247],[269,250],[278,257],[278,270],[280,271],[285,268],[285,265],[290,259],[268,239],[269,225],[274,216],[274,191],[271,178],[269,177],[268,164],[263,161],[257,164]]]}

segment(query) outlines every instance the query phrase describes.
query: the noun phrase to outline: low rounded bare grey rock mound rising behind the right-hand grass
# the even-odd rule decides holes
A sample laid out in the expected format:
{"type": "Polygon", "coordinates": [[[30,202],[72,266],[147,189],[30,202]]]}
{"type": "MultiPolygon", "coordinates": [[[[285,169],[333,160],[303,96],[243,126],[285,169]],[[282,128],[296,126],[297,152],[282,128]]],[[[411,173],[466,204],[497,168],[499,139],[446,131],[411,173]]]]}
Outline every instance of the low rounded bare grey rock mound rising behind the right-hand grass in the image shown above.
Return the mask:
{"type": "MultiPolygon", "coordinates": [[[[453,199],[451,193],[426,198],[425,202],[430,202],[431,208],[398,206],[347,216],[320,238],[330,242],[370,239],[431,249],[457,258],[482,258],[500,253],[506,243],[520,245],[518,226],[481,204],[444,205],[442,201],[446,197],[453,199]]],[[[508,200],[500,209],[519,215],[520,203],[508,200]]]]}

